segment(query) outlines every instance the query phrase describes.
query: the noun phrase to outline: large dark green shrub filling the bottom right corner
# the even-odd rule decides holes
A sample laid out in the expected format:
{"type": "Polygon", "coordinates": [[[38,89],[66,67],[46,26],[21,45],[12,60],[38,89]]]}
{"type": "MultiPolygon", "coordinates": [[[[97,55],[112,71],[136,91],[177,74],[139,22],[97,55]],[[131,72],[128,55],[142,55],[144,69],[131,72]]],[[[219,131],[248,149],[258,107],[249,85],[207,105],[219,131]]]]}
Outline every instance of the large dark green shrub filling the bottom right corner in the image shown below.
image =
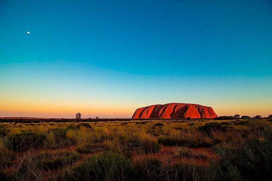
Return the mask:
{"type": "Polygon", "coordinates": [[[272,177],[272,129],[261,132],[263,140],[251,139],[234,148],[216,146],[218,159],[211,165],[215,180],[270,180],[272,177]]]}

